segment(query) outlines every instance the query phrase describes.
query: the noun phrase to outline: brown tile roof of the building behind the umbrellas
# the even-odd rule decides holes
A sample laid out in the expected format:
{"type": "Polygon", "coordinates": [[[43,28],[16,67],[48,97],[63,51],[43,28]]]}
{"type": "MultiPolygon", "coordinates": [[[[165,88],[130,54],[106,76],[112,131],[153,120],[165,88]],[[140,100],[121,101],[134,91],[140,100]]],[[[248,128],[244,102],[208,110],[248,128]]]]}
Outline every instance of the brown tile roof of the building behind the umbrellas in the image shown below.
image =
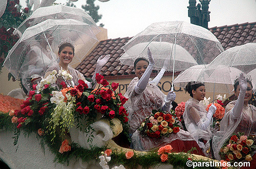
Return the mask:
{"type": "MultiPolygon", "coordinates": [[[[211,27],[209,30],[217,37],[225,50],[233,46],[239,46],[250,42],[256,43],[256,22],[220,27],[216,26],[211,27]]],[[[85,77],[92,77],[97,59],[100,55],[111,54],[111,59],[101,69],[101,74],[103,76],[108,78],[135,76],[133,66],[121,65],[118,60],[124,53],[121,47],[130,39],[132,39],[132,37],[100,41],[95,49],[76,67],[76,69],[85,77]]]]}

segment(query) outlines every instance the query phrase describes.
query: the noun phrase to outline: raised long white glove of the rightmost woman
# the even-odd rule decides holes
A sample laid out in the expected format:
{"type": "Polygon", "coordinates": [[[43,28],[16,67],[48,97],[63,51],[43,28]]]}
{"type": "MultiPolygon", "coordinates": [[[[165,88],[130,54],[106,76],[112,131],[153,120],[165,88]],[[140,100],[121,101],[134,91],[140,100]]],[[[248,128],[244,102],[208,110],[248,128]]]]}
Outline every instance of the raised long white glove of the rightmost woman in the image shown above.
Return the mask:
{"type": "Polygon", "coordinates": [[[233,119],[238,119],[241,116],[242,109],[244,106],[244,97],[247,90],[247,80],[245,79],[245,76],[243,73],[240,73],[239,75],[239,86],[240,86],[240,93],[239,93],[236,104],[234,104],[234,107],[232,109],[232,114],[231,114],[231,117],[233,119]]]}

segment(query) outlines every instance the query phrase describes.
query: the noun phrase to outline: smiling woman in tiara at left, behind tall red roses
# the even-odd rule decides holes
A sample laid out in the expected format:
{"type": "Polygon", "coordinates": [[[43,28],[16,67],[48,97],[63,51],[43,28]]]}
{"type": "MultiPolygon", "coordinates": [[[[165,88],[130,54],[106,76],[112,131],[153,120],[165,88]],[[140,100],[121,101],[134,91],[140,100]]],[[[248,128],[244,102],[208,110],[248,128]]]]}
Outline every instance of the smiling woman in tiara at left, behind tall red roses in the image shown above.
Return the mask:
{"type": "MultiPolygon", "coordinates": [[[[81,74],[79,71],[69,66],[69,64],[72,62],[74,58],[74,55],[75,55],[75,48],[72,42],[71,41],[62,42],[59,45],[59,50],[58,50],[59,63],[51,66],[47,70],[45,77],[47,77],[53,70],[59,71],[62,69],[67,71],[67,73],[71,74],[73,77],[72,80],[66,81],[70,86],[78,85],[78,80],[81,79],[87,83],[89,88],[92,88],[91,83],[84,78],[83,74],[81,74]]],[[[95,78],[95,74],[100,72],[102,66],[104,66],[105,63],[109,61],[109,58],[110,58],[110,54],[105,55],[105,57],[103,57],[102,55],[101,57],[99,57],[99,59],[97,60],[93,80],[95,78]]],[[[62,77],[58,77],[56,81],[56,85],[60,86],[60,83],[62,81],[64,81],[64,79],[62,77]]]]}

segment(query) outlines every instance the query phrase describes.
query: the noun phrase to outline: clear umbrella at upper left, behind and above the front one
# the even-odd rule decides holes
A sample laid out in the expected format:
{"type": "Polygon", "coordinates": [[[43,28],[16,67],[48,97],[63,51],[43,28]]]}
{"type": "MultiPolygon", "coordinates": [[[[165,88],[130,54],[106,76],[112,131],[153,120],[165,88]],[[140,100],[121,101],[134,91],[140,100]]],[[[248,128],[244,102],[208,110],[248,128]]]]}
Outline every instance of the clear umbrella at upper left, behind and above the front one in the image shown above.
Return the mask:
{"type": "Polygon", "coordinates": [[[25,21],[23,21],[14,32],[24,31],[37,23],[45,21],[47,19],[74,19],[79,20],[84,23],[91,25],[93,33],[96,35],[100,32],[98,26],[94,22],[93,18],[85,11],[79,8],[68,7],[65,5],[53,5],[49,7],[41,7],[36,9],[31,16],[29,16],[25,21]]]}

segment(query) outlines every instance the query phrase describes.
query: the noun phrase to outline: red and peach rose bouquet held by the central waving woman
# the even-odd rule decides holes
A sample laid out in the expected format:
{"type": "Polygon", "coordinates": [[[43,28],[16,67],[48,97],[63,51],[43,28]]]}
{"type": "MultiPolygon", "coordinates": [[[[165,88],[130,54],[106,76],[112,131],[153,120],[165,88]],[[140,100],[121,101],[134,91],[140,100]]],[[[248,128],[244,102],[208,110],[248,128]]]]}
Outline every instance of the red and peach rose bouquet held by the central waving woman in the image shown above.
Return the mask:
{"type": "Polygon", "coordinates": [[[151,116],[145,118],[145,121],[141,123],[138,130],[141,135],[147,135],[149,137],[168,137],[169,134],[178,133],[180,131],[178,123],[179,121],[173,110],[165,112],[154,109],[152,110],[151,116]]]}

